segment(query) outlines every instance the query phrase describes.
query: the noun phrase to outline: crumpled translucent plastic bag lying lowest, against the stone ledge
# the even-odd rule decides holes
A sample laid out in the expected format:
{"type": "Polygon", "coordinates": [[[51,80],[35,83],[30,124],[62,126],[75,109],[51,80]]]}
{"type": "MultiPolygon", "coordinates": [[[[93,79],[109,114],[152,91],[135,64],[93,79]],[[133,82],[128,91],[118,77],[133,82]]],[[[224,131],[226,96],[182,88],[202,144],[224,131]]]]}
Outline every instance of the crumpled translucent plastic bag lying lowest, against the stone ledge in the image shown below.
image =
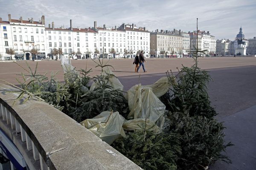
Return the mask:
{"type": "Polygon", "coordinates": [[[126,137],[122,128],[124,122],[125,118],[119,112],[104,111],[93,119],[86,119],[80,124],[99,136],[102,141],[112,144],[120,136],[126,137]]]}

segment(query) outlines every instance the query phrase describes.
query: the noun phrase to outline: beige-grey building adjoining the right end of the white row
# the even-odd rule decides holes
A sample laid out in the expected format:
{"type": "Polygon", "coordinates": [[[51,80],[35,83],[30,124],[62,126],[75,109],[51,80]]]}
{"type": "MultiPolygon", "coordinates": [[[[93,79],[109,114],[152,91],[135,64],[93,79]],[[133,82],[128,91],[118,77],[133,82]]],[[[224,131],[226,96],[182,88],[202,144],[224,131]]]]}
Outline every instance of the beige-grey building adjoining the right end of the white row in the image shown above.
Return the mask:
{"type": "Polygon", "coordinates": [[[158,29],[150,33],[150,49],[154,57],[182,57],[183,35],[181,30],[158,29]]]}

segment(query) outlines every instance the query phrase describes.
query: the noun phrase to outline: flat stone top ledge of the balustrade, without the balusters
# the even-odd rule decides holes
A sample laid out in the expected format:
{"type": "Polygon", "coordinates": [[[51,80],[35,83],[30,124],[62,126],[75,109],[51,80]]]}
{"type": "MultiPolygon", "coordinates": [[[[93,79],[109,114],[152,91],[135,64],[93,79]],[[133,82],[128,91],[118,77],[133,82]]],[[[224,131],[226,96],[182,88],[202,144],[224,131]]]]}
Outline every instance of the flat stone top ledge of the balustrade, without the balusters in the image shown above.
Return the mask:
{"type": "Polygon", "coordinates": [[[139,170],[113,147],[45,102],[16,102],[14,88],[0,84],[0,102],[15,116],[50,169],[139,170]],[[111,150],[112,152],[108,152],[111,150]]]}

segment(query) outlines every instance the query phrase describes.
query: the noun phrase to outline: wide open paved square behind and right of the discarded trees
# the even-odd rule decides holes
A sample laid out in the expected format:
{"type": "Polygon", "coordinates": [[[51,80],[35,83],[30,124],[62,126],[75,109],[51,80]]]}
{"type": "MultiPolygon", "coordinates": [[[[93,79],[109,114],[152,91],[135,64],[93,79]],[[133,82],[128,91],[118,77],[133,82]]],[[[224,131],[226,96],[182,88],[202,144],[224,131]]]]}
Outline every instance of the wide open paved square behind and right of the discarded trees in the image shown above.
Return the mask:
{"type": "MultiPolygon", "coordinates": [[[[94,60],[97,61],[97,60],[94,60]]],[[[108,60],[104,60],[106,62],[108,60]]],[[[147,73],[134,73],[133,59],[111,59],[108,64],[115,68],[114,74],[124,85],[124,91],[139,81],[143,85],[152,84],[160,77],[166,76],[167,70],[177,72],[177,68],[191,66],[191,58],[146,59],[147,73]]],[[[25,61],[17,61],[26,67],[25,61]]],[[[33,61],[27,62],[35,68],[33,61]]],[[[72,60],[76,68],[92,68],[90,75],[99,74],[101,69],[90,59],[72,60]]],[[[213,81],[209,82],[209,96],[212,106],[216,108],[217,119],[227,127],[226,141],[232,141],[235,146],[227,149],[227,155],[233,164],[217,162],[211,170],[256,170],[256,57],[223,57],[200,58],[198,66],[209,71],[213,81]]],[[[50,76],[57,72],[56,78],[64,81],[60,61],[38,62],[38,73],[50,76]]],[[[17,85],[16,74],[24,72],[13,62],[0,62],[0,79],[5,79],[17,85]]]]}

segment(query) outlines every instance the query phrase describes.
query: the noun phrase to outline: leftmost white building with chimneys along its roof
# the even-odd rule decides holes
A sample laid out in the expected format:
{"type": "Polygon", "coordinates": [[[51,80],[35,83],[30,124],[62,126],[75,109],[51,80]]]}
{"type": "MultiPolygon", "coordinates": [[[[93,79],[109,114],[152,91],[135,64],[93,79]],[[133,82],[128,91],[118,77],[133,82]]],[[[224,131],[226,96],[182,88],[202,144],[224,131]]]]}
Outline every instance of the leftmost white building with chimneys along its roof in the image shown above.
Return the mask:
{"type": "Polygon", "coordinates": [[[9,48],[15,50],[12,59],[34,59],[35,56],[32,56],[30,52],[33,48],[38,49],[38,56],[45,57],[44,23],[44,16],[39,21],[34,21],[33,18],[23,20],[22,17],[19,20],[14,20],[11,18],[11,14],[8,14],[8,21],[0,21],[2,59],[7,59],[10,56],[6,54],[9,48]]]}

